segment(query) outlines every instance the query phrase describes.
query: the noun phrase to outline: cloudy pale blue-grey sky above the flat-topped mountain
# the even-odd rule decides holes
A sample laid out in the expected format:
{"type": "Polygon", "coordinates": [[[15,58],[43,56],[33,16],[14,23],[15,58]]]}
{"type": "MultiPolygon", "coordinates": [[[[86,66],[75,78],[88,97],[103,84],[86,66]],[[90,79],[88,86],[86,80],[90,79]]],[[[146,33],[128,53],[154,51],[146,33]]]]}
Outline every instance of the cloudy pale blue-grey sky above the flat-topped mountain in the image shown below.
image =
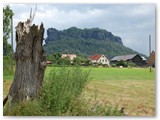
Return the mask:
{"type": "MultiPolygon", "coordinates": [[[[14,28],[29,18],[35,4],[10,4],[14,12],[14,28]]],[[[48,28],[102,28],[122,38],[122,42],[137,52],[149,55],[149,34],[155,50],[155,4],[37,4],[34,23],[48,28]]],[[[15,43],[14,43],[15,46],[15,43]]]]}

